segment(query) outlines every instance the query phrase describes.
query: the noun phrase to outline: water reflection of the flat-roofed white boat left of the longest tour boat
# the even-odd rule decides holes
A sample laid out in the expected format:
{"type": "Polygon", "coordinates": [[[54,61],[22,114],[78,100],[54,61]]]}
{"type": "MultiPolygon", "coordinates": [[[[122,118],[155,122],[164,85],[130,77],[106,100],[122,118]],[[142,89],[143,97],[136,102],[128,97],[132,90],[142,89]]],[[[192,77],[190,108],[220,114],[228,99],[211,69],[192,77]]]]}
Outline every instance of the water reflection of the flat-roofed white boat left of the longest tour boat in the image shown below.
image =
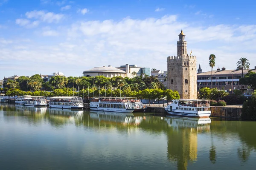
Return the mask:
{"type": "Polygon", "coordinates": [[[50,115],[83,117],[84,111],[50,108],[49,113],[50,115]]]}

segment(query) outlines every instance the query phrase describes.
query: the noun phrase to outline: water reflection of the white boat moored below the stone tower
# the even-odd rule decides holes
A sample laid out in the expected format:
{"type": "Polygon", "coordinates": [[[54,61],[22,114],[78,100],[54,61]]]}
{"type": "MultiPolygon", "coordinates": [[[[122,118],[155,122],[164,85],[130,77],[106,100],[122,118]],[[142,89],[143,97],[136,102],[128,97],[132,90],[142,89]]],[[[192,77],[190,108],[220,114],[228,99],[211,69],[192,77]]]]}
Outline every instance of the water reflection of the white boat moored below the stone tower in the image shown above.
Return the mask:
{"type": "Polygon", "coordinates": [[[210,128],[211,119],[208,118],[194,118],[194,117],[178,117],[178,116],[167,116],[165,121],[169,126],[179,128],[179,127],[189,127],[197,128],[198,130],[210,128]]]}

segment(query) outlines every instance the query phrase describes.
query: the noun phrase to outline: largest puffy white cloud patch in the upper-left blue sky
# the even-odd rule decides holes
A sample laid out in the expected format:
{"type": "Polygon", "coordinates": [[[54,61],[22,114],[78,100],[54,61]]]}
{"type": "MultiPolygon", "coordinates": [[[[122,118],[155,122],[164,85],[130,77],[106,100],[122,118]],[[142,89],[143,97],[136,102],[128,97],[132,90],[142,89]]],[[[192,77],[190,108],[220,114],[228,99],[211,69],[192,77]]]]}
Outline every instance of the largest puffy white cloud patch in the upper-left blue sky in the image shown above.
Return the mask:
{"type": "Polygon", "coordinates": [[[43,22],[47,23],[58,23],[59,21],[64,19],[64,14],[55,14],[53,12],[45,12],[45,11],[30,11],[26,12],[26,17],[29,19],[39,19],[43,22]]]}

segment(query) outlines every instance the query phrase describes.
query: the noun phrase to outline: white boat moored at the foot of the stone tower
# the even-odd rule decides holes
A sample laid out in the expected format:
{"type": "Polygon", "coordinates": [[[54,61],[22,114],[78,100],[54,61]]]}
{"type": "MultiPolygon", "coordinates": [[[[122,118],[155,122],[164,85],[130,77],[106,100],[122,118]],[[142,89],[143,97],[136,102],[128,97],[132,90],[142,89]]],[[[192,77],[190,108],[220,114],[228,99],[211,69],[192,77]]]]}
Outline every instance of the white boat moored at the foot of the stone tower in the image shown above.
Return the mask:
{"type": "Polygon", "coordinates": [[[165,110],[170,115],[186,116],[186,117],[209,117],[210,101],[199,99],[180,99],[172,100],[168,103],[165,110]]]}

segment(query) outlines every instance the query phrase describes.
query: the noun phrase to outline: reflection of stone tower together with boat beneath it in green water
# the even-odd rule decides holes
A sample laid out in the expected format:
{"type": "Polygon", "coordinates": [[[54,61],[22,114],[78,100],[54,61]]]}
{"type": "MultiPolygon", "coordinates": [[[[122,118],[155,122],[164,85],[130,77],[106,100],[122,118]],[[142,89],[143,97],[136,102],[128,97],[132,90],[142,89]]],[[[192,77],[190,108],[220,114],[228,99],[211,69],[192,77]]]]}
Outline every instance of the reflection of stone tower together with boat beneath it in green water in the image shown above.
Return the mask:
{"type": "Polygon", "coordinates": [[[166,122],[173,127],[167,132],[168,159],[177,161],[178,170],[186,170],[189,162],[197,160],[197,134],[202,129],[209,130],[211,119],[171,117],[166,122]]]}

